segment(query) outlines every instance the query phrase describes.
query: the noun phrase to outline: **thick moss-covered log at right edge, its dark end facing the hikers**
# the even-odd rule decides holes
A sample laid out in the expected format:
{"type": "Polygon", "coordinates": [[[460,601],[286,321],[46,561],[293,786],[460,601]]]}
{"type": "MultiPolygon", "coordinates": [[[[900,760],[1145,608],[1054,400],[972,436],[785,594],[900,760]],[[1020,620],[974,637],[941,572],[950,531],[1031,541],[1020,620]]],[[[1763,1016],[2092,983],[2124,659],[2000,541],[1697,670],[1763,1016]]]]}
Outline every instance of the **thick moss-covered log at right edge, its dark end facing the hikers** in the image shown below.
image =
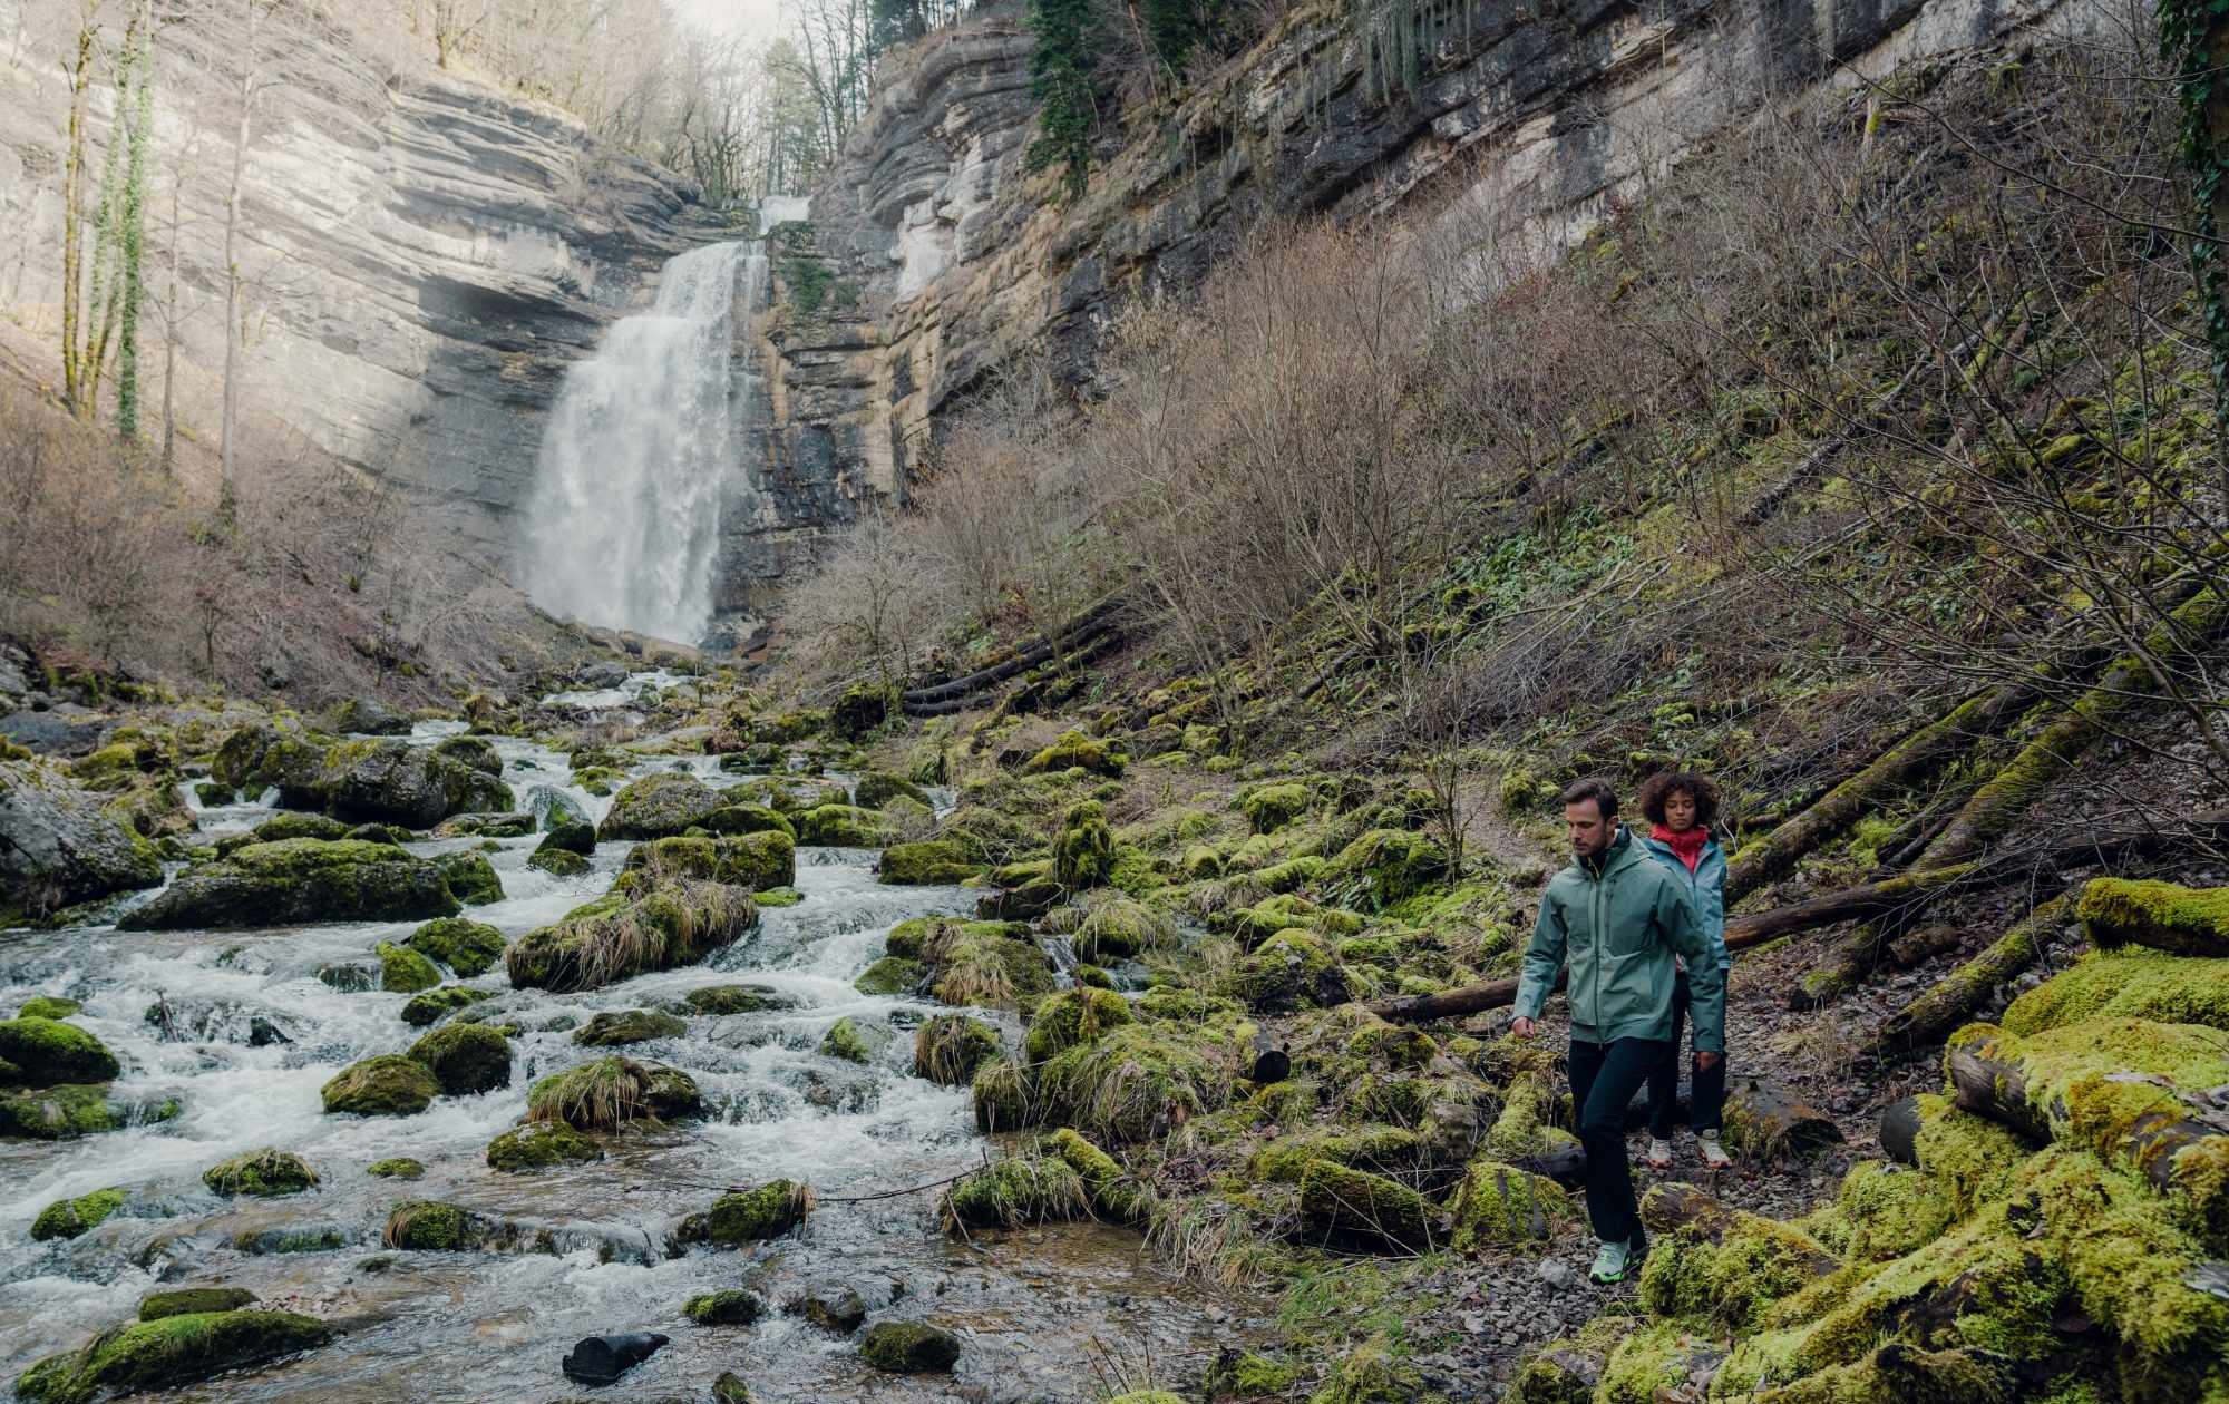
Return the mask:
{"type": "Polygon", "coordinates": [[[2229,1250],[2229,1045],[2218,1030],[2095,1018],[2015,1039],[1968,1025],[1944,1050],[1950,1101],[2035,1143],[2089,1150],[2169,1197],[2229,1250]]]}

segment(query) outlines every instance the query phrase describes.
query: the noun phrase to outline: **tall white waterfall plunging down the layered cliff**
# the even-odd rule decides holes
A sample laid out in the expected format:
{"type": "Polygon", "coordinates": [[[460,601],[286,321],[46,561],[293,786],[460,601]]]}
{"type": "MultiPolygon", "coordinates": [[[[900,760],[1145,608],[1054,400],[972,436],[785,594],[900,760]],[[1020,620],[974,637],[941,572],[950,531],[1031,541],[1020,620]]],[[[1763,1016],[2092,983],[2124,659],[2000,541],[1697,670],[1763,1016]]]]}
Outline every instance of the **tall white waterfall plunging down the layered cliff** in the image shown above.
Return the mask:
{"type": "Polygon", "coordinates": [[[738,428],[738,281],[749,316],[765,296],[765,245],[673,259],[658,303],[566,372],[519,553],[526,593],[551,613],[682,644],[704,633],[738,428]]]}

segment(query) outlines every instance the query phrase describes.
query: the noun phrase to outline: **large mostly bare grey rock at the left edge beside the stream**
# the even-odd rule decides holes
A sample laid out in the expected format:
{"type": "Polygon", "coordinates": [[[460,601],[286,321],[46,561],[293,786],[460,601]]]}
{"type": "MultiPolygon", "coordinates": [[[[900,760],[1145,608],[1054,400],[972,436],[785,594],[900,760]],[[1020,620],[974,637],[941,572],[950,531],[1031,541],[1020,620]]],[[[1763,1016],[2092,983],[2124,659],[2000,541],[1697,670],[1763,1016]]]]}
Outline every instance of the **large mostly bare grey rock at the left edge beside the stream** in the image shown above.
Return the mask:
{"type": "Polygon", "coordinates": [[[0,925],[163,880],[163,858],[38,762],[0,762],[0,925]]]}

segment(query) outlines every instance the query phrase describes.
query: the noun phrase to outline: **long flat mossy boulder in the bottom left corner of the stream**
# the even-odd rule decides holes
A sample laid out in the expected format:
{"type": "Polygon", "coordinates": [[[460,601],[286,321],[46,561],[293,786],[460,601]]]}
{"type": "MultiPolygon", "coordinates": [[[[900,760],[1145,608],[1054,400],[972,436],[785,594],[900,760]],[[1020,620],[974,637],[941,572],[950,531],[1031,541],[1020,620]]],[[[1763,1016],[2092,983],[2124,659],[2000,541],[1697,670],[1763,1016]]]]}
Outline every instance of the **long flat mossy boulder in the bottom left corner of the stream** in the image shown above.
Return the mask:
{"type": "Polygon", "coordinates": [[[332,1339],[317,1317],[285,1310],[187,1313],[96,1335],[87,1346],[49,1355],[16,1379],[16,1397],[78,1404],[103,1393],[198,1384],[227,1371],[267,1364],[332,1339]]]}

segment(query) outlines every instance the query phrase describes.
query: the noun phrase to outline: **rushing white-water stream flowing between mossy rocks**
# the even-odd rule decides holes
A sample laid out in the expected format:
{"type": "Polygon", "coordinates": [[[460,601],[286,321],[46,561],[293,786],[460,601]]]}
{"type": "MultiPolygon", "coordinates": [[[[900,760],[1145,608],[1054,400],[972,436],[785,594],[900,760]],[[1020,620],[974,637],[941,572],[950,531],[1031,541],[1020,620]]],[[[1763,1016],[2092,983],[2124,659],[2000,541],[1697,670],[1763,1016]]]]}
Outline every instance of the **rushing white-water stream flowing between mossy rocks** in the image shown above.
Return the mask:
{"type": "MultiPolygon", "coordinates": [[[[640,686],[588,695],[622,706],[640,686]]],[[[419,724],[430,744],[461,724],[419,724]]],[[[571,784],[564,753],[495,740],[519,807],[535,784],[566,791],[591,818],[609,798],[571,784]]],[[[713,758],[642,758],[633,773],[689,769],[738,784],[713,758]]],[[[196,805],[198,809],[198,805],[196,805]]],[[[263,805],[201,811],[201,840],[252,829],[263,805]]],[[[417,854],[481,847],[452,838],[417,854]]],[[[631,845],[600,845],[593,869],[555,878],[526,867],[537,836],[493,840],[504,900],[466,916],[506,936],[546,925],[600,896],[631,845]]],[[[943,1005],[874,998],[851,981],[883,954],[892,925],[965,914],[958,887],[883,887],[872,849],[798,849],[805,900],[769,907],[753,934],[709,963],[649,974],[588,994],[513,992],[502,965],[477,981],[499,992],[479,1005],[517,1023],[513,1079],[479,1096],[441,1096],[417,1117],[328,1117],[319,1088],[348,1063],[403,1052],[424,1032],[399,1010],[408,996],[343,994],[319,972],[366,965],[372,947],[417,923],[345,923],[265,932],[116,932],[78,927],[0,936],[0,1012],[33,994],[85,1003],[74,1023],[123,1061],[111,1096],[178,1103],[178,1114],[80,1141],[0,1143],[0,1371],[71,1348],[129,1322],[160,1286],[241,1286],[265,1306],[330,1317],[323,1351],[167,1391],[167,1400],[559,1400],[559,1357],[604,1330],[662,1330],[673,1342],[609,1391],[626,1400],[702,1400],[722,1371],[753,1397],[785,1400],[1092,1400],[1108,1357],[1148,1355],[1168,1379],[1199,1368],[1226,1313],[1155,1264],[1137,1232],[1097,1223],[974,1244],[936,1226],[936,1192],[867,1203],[823,1203],[807,1226],[756,1250],[666,1255],[666,1232],[711,1206],[724,1186],[800,1179],[823,1197],[856,1197],[938,1181],[981,1163],[965,1088],[912,1076],[912,1027],[943,1005]],[[537,1174],[486,1166],[490,1139],[526,1112],[528,1085],[611,1050],[577,1047],[571,1027],[600,1010],[662,1007],[700,985],[771,985],[787,1012],[689,1018],[675,1039],[629,1056],[687,1070],[709,1114],[606,1139],[606,1159],[537,1174]],[[165,1010],[149,1021],[149,1010],[165,1010]],[[872,1065],[818,1052],[836,1018],[887,1027],[872,1065]],[[283,1199],[230,1201],[201,1186],[210,1166],[263,1145],[310,1161],[321,1183],[283,1199]],[[388,1157],[426,1163],[419,1181],[374,1179],[388,1157]],[[74,1241],[36,1244],[31,1219],[56,1199],[127,1186],[123,1210],[74,1241]],[[395,1203],[441,1199],[551,1223],[557,1255],[386,1252],[395,1203]],[[767,1317],[753,1326],[693,1326],[684,1299],[751,1286],[767,1317]],[[807,1286],[849,1286],[869,1324],[929,1319],[965,1351],[954,1375],[878,1375],[838,1337],[778,1308],[807,1286]]],[[[992,1016],[1012,1041],[1012,1016],[992,1016]]]]}

